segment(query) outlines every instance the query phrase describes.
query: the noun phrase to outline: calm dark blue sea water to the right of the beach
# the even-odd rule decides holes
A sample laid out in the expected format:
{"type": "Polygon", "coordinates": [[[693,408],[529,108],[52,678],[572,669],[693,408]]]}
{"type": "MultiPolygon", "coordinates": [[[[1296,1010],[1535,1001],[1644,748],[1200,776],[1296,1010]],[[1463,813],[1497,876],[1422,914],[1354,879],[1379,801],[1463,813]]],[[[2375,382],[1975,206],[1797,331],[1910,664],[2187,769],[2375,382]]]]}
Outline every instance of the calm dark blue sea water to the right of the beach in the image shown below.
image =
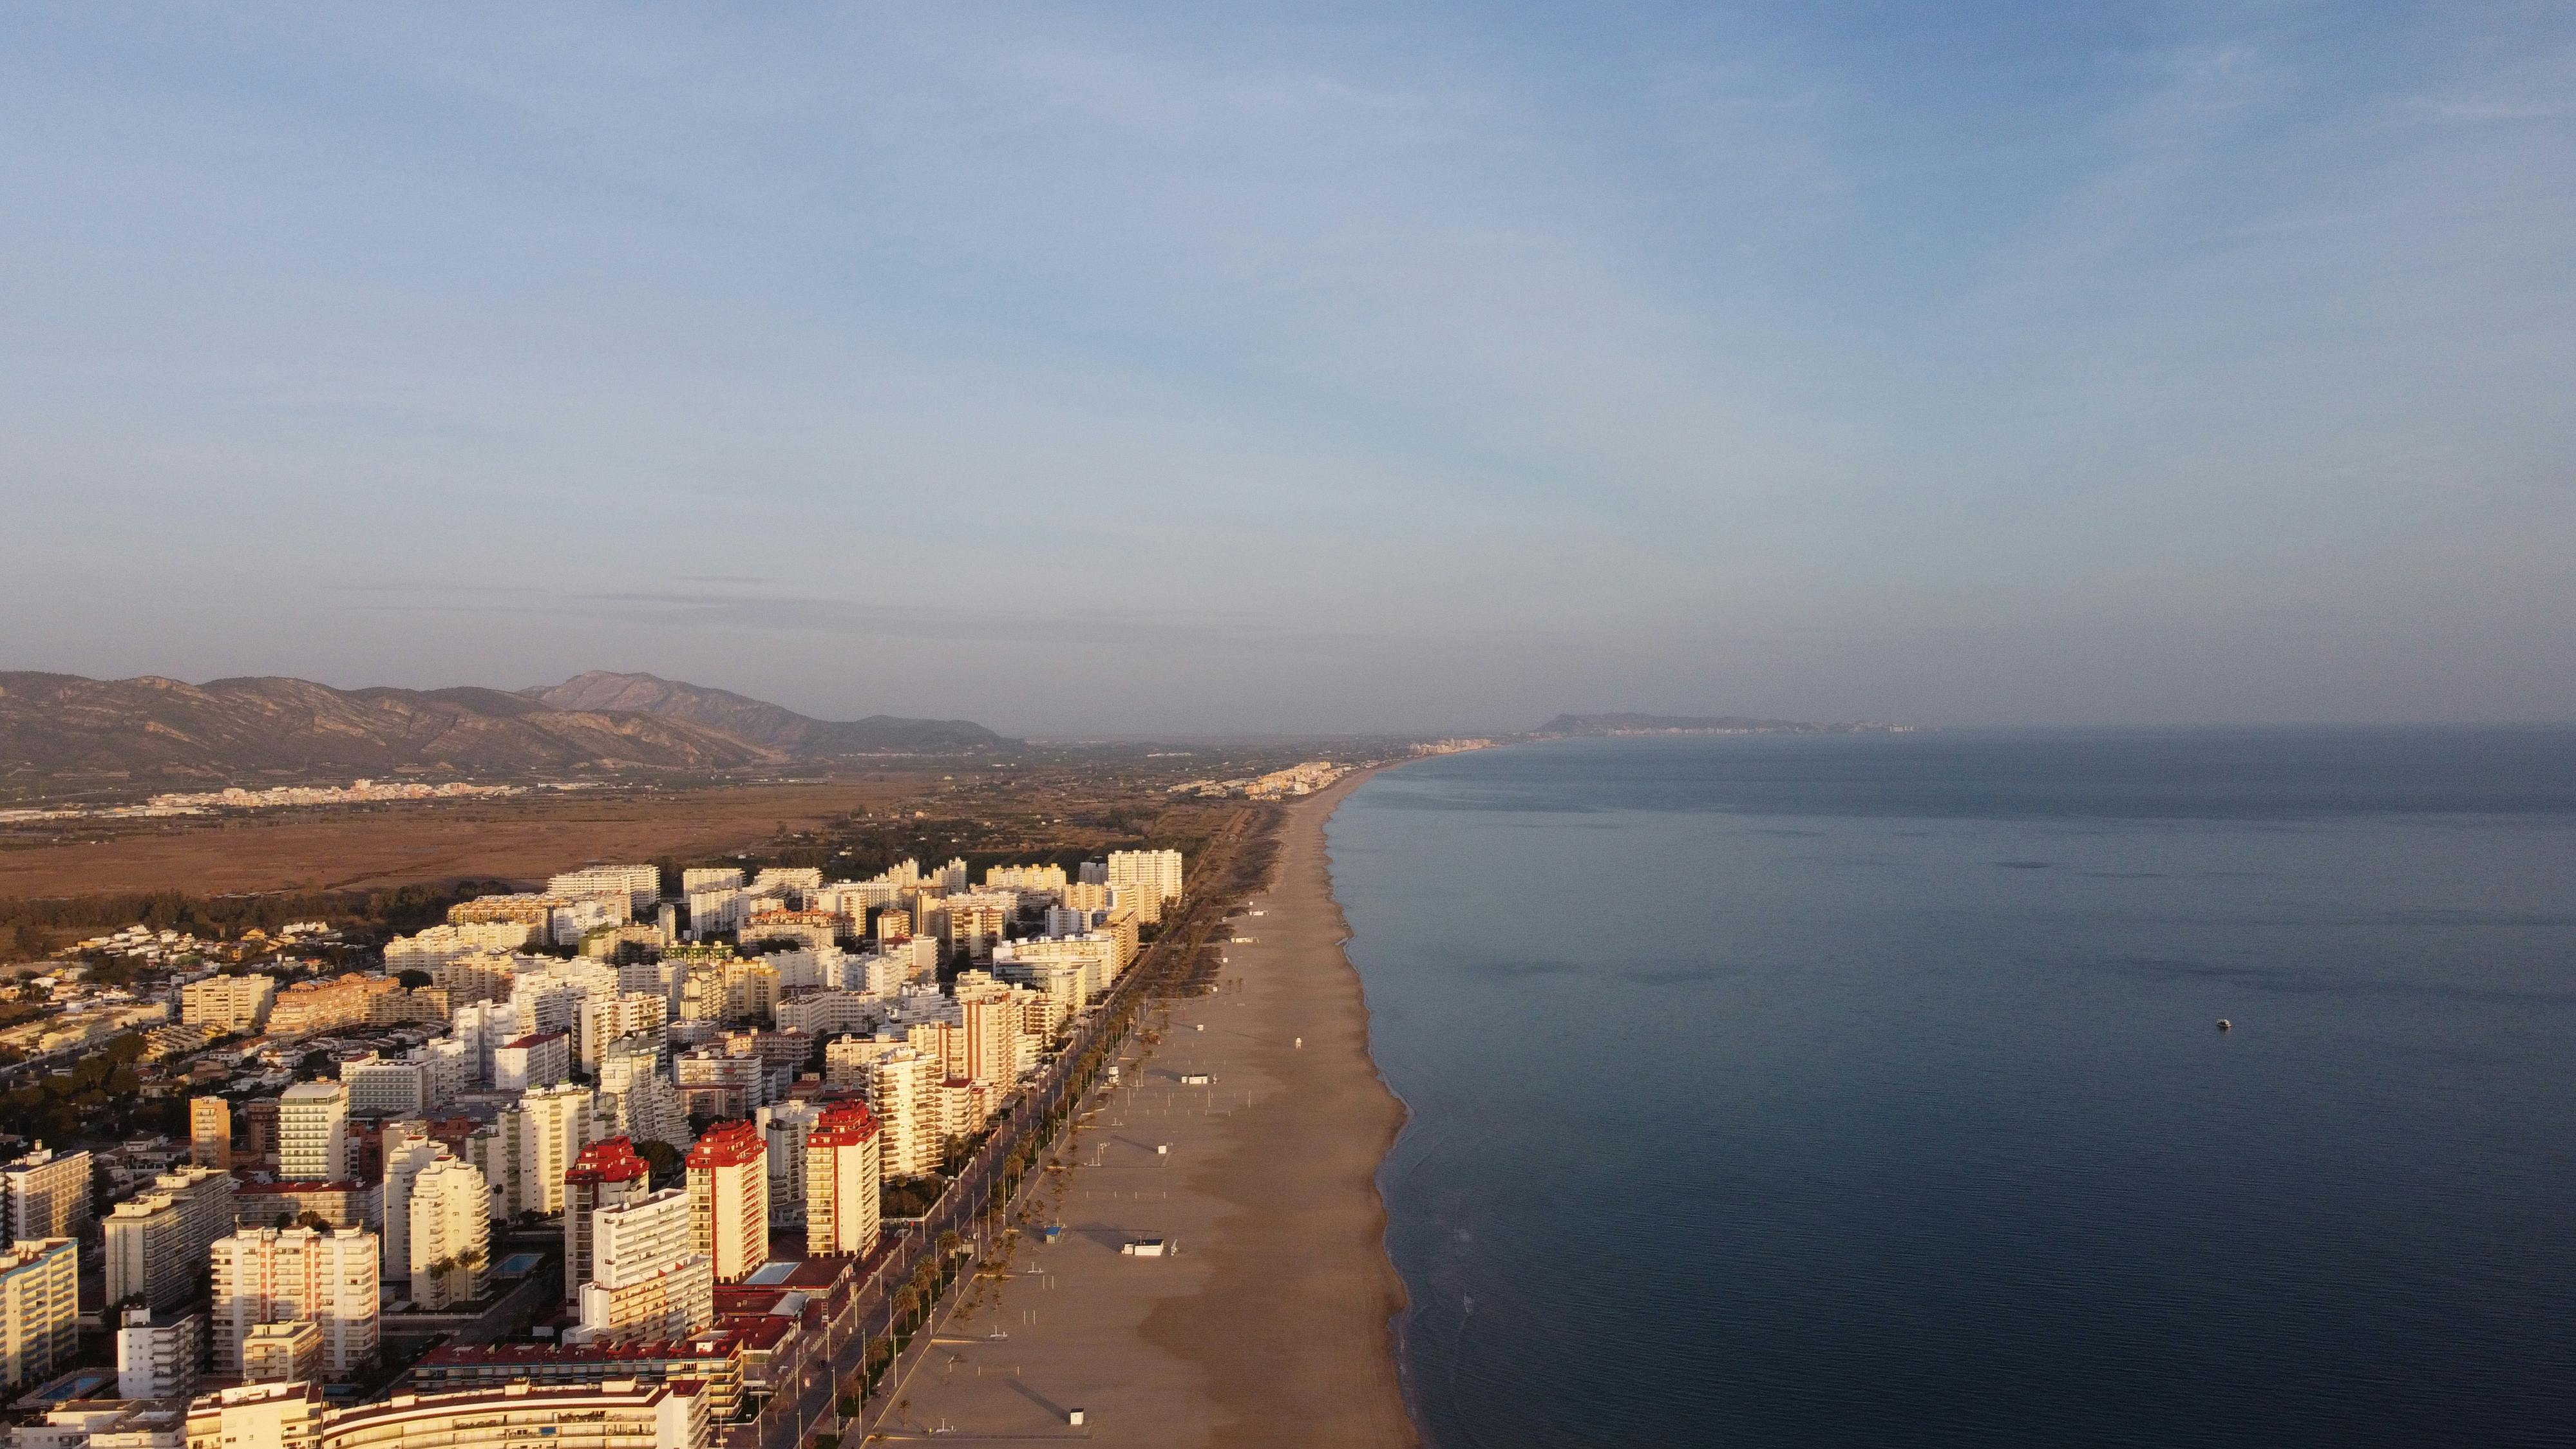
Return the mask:
{"type": "Polygon", "coordinates": [[[1569,740],[1332,861],[1443,1449],[2576,1441],[2576,732],[1569,740]]]}

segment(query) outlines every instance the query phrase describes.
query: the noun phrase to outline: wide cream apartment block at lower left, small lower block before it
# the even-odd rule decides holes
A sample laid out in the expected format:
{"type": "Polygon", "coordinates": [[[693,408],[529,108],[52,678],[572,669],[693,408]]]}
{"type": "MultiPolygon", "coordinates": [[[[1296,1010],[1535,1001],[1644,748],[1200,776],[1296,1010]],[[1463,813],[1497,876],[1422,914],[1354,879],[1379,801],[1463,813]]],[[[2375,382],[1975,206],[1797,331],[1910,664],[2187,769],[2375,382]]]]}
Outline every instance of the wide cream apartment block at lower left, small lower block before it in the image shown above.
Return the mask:
{"type": "MultiPolygon", "coordinates": [[[[412,1189],[417,1207],[417,1183],[412,1189]]],[[[417,1217],[415,1217],[417,1222],[417,1217]]],[[[420,1250],[417,1232],[412,1250],[420,1250]]],[[[214,1240],[214,1372],[242,1372],[252,1323],[322,1325],[322,1372],[353,1374],[376,1356],[376,1235],[366,1227],[255,1227],[214,1240]]]]}

